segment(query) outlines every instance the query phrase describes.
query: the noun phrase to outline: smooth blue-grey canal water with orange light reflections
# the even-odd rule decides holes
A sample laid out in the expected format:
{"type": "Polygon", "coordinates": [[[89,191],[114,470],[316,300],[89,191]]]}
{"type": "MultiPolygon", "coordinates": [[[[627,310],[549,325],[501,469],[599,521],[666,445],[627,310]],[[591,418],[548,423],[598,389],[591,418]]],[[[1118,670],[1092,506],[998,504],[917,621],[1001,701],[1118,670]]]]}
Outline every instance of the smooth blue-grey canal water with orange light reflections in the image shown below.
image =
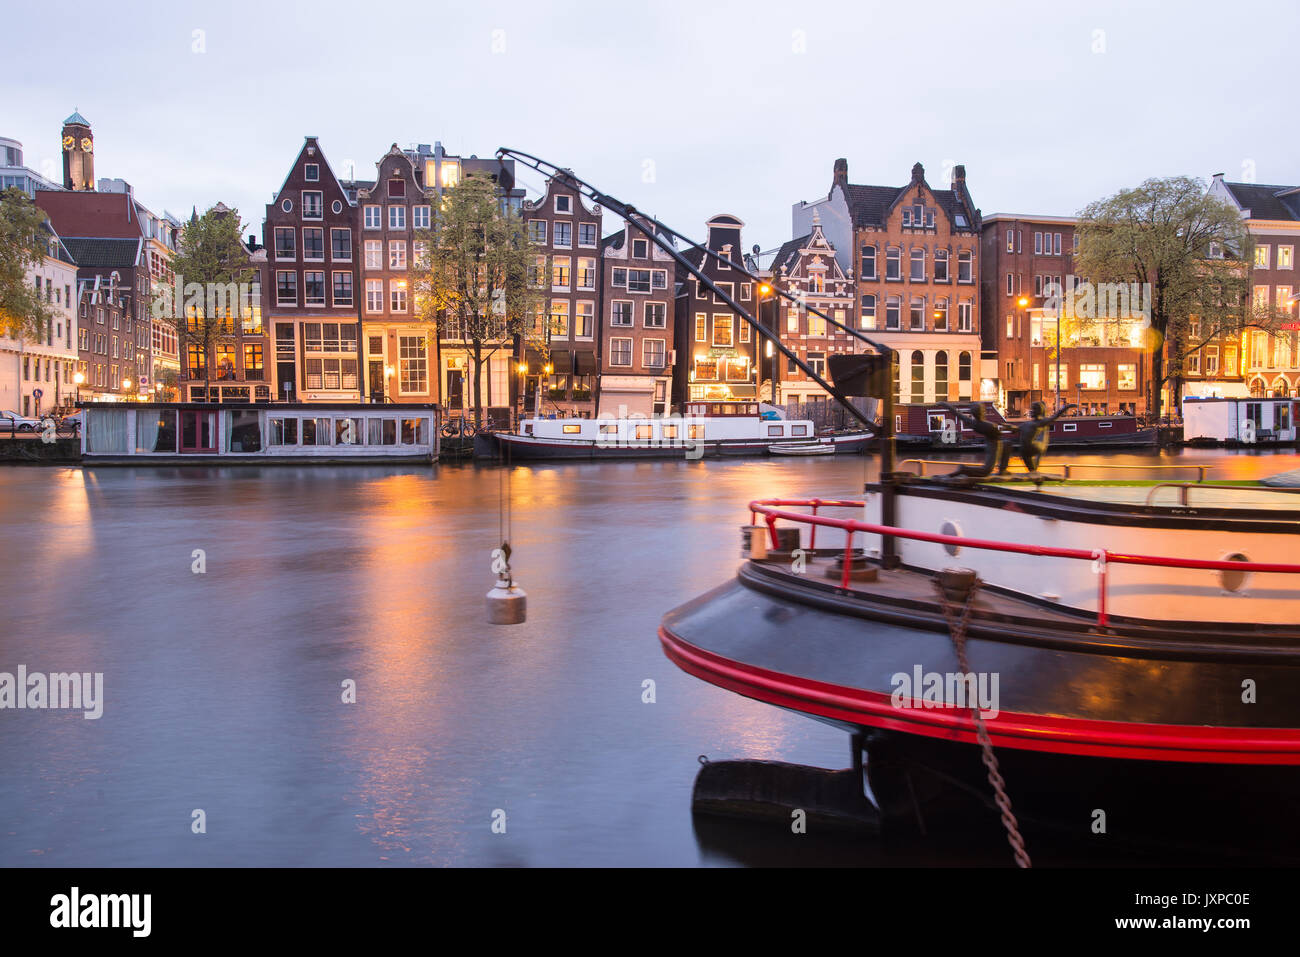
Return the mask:
{"type": "Polygon", "coordinates": [[[849,746],[679,671],[659,619],[733,573],[748,501],[850,497],[871,468],[0,468],[0,672],[104,676],[99,719],[0,711],[0,865],[1008,862],[692,818],[702,754],[849,746]],[[503,503],[514,627],[484,612],[503,503]]]}

